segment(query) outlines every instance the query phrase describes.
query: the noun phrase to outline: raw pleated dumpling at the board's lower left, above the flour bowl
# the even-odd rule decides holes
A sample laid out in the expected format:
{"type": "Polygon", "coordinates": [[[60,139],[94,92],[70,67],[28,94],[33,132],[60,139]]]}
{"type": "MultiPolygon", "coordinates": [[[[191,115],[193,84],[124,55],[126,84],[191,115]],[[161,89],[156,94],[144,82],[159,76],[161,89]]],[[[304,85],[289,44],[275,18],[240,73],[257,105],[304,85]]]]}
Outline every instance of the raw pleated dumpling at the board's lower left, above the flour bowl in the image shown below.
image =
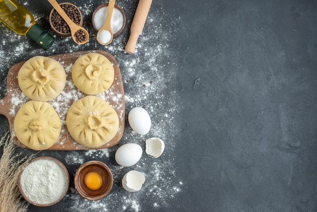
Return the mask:
{"type": "Polygon", "coordinates": [[[26,102],[14,119],[17,138],[32,150],[52,147],[60,135],[61,127],[61,120],[56,111],[44,101],[26,102]]]}

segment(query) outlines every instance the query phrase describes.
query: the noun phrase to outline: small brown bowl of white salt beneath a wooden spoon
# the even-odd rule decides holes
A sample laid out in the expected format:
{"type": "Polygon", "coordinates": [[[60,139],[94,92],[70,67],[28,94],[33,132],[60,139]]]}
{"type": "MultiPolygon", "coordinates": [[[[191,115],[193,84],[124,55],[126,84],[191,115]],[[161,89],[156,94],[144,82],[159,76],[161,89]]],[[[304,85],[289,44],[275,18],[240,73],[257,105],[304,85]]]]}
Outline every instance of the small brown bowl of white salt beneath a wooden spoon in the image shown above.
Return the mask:
{"type": "MultiPolygon", "coordinates": [[[[98,31],[106,20],[106,12],[108,3],[99,5],[93,13],[92,23],[96,31],[98,31]]],[[[126,25],[126,15],[123,9],[114,5],[111,17],[111,29],[113,38],[118,36],[126,25]]]]}

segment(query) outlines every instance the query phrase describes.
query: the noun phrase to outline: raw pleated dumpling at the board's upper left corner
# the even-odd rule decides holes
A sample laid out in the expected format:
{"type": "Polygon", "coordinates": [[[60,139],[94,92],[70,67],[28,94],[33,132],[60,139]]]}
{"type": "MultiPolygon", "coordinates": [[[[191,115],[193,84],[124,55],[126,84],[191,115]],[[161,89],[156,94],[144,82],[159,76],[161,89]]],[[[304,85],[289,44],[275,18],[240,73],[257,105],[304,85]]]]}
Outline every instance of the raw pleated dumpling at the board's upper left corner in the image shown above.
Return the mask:
{"type": "Polygon", "coordinates": [[[35,56],[27,60],[19,70],[19,86],[30,99],[48,101],[58,96],[65,87],[66,73],[56,60],[35,56]]]}

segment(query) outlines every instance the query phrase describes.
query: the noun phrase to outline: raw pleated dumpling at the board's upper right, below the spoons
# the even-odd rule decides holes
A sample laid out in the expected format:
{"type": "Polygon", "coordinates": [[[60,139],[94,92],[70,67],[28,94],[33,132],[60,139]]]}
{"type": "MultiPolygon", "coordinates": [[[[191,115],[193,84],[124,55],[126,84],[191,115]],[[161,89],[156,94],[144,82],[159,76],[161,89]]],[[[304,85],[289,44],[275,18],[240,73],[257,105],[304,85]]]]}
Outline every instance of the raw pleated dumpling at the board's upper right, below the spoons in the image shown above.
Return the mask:
{"type": "Polygon", "coordinates": [[[114,79],[111,62],[103,55],[89,53],[79,57],[71,71],[74,85],[88,95],[107,90],[114,79]]]}

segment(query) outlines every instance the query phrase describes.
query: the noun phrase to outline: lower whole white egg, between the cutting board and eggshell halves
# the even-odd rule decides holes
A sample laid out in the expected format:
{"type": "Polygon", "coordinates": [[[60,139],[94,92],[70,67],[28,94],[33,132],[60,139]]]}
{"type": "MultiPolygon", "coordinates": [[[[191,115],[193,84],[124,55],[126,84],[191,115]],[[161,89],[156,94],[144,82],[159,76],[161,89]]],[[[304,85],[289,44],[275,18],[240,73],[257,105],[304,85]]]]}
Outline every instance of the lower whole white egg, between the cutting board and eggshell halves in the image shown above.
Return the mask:
{"type": "Polygon", "coordinates": [[[115,152],[115,161],[121,166],[133,166],[142,156],[142,148],[137,144],[125,144],[115,152]]]}

